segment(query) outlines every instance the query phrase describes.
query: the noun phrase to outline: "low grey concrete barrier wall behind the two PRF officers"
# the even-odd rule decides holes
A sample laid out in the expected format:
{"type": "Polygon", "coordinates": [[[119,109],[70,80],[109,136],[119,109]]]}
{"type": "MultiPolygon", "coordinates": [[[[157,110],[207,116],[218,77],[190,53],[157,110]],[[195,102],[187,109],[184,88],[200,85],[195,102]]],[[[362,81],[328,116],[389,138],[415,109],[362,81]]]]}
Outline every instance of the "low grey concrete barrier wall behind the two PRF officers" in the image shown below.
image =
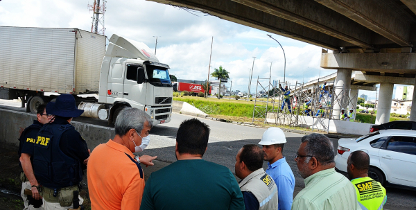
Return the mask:
{"type": "MultiPolygon", "coordinates": [[[[24,128],[28,127],[36,119],[35,114],[16,112],[12,110],[0,110],[0,143],[11,143],[19,146],[19,137],[24,128]]],[[[88,148],[93,150],[98,144],[105,143],[114,137],[114,128],[92,125],[72,121],[81,136],[87,141],[88,148]]]]}

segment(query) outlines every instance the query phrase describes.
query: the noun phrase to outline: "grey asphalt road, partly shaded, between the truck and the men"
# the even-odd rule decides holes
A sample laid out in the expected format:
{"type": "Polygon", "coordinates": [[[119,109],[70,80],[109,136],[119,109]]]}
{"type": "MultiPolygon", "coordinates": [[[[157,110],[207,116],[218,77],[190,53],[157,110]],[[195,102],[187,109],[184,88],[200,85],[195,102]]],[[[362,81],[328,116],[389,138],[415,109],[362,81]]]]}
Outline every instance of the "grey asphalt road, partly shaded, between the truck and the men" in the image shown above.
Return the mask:
{"type": "MultiPolygon", "coordinates": [[[[19,107],[5,107],[1,105],[0,108],[7,110],[22,111],[19,107]]],[[[150,130],[150,144],[144,150],[143,155],[158,156],[157,160],[165,163],[172,163],[176,161],[175,158],[175,135],[180,123],[185,119],[190,119],[193,116],[173,113],[173,119],[170,123],[156,125],[150,130]]],[[[96,125],[108,126],[105,121],[98,119],[88,119],[79,117],[74,121],[81,121],[85,123],[92,123],[96,125]]],[[[219,121],[211,121],[207,119],[200,119],[200,121],[207,123],[211,129],[209,135],[209,143],[204,159],[213,161],[229,168],[234,173],[235,156],[239,149],[248,143],[259,143],[264,128],[254,128],[243,125],[236,125],[232,123],[225,123],[219,121]]],[[[297,173],[297,166],[295,163],[295,155],[297,148],[300,146],[300,139],[303,134],[295,134],[286,132],[287,143],[284,146],[283,154],[286,161],[293,170],[295,175],[295,193],[304,188],[304,181],[297,173]]],[[[338,147],[338,139],[331,139],[334,148],[338,147]]],[[[141,155],[141,154],[139,154],[141,155]]],[[[267,164],[263,165],[264,168],[267,164]]],[[[151,170],[146,168],[145,170],[151,170]]],[[[146,173],[146,171],[145,171],[146,173]]],[[[384,209],[416,209],[416,192],[404,189],[387,188],[388,202],[384,209]]]]}

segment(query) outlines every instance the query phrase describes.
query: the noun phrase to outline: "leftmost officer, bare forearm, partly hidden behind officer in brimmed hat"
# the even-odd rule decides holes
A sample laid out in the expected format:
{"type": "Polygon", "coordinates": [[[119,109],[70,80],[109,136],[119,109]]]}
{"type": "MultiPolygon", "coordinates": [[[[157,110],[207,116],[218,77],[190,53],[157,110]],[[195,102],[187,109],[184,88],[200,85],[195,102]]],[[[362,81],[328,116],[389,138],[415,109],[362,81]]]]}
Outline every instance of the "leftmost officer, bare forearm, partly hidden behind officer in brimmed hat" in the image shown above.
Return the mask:
{"type": "Polygon", "coordinates": [[[19,161],[23,169],[20,175],[22,182],[20,195],[23,198],[25,209],[40,209],[42,205],[39,191],[35,187],[39,184],[33,174],[33,146],[35,145],[35,139],[37,139],[37,132],[45,123],[49,123],[53,117],[51,114],[46,114],[46,103],[37,107],[36,117],[37,119],[33,121],[33,124],[21,132],[19,138],[19,161]]]}

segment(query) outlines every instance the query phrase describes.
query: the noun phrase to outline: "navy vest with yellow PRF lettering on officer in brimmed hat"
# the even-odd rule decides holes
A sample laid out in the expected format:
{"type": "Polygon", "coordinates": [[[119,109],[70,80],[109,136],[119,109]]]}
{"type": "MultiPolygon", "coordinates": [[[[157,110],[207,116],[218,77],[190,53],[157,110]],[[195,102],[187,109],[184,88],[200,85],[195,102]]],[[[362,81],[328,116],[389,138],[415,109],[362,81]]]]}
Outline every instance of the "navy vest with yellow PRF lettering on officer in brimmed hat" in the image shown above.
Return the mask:
{"type": "Polygon", "coordinates": [[[37,182],[50,189],[77,185],[83,180],[80,162],[60,150],[62,134],[72,125],[46,124],[38,133],[33,151],[33,172],[37,182]]]}

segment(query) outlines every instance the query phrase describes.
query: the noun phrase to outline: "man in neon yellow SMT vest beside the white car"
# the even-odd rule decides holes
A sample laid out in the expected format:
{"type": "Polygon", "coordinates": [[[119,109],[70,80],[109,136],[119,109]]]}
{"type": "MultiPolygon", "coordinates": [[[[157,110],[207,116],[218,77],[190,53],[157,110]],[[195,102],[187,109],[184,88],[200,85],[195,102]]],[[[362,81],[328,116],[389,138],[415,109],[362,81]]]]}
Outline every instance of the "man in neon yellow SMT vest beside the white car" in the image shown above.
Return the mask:
{"type": "Polygon", "coordinates": [[[370,157],[367,153],[358,150],[349,154],[347,159],[348,177],[356,189],[361,209],[383,209],[385,202],[387,202],[385,189],[380,182],[368,177],[368,168],[370,168],[370,157]]]}

